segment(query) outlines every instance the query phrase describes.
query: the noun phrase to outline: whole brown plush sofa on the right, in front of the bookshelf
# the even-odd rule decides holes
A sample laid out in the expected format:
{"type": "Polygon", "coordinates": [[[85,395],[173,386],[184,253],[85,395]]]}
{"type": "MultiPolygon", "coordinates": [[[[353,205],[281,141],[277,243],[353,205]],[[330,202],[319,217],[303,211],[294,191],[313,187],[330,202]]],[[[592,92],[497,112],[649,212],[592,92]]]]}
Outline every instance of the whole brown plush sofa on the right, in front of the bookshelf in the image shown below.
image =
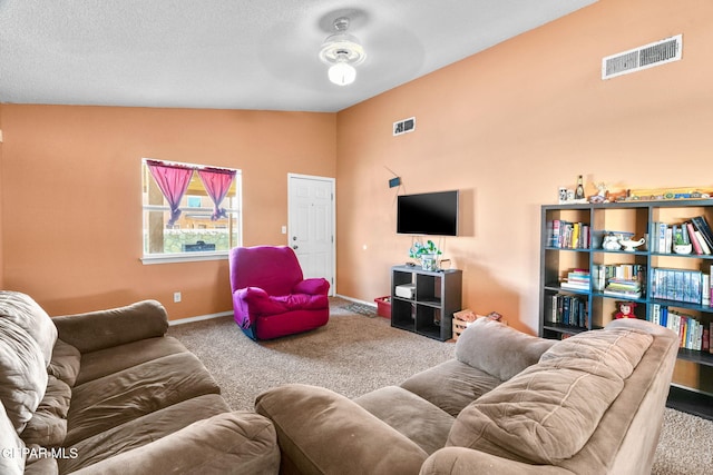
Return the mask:
{"type": "Polygon", "coordinates": [[[285,385],[256,409],[284,474],[648,475],[677,346],[636,319],[561,342],[480,319],[400,386],[351,400],[285,385]]]}

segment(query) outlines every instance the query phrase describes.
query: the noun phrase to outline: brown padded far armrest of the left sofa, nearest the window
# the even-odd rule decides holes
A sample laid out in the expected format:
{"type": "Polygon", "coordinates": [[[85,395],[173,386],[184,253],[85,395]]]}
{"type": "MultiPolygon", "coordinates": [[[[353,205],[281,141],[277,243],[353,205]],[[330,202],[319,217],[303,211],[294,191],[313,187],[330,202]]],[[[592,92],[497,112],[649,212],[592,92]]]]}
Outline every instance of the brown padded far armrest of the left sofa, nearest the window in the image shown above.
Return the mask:
{"type": "Polygon", "coordinates": [[[52,321],[59,338],[81,353],[164,336],[168,329],[166,309],[156,300],[53,317],[52,321]]]}

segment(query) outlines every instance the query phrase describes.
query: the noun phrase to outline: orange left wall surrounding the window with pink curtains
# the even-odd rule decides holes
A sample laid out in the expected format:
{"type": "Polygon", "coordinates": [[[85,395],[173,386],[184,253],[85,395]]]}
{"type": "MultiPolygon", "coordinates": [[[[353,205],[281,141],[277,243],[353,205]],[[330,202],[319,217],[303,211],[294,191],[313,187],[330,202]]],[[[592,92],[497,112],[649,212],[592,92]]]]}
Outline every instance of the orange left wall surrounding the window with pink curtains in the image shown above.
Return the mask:
{"type": "Polygon", "coordinates": [[[2,288],[50,315],[232,309],[227,260],[143,265],[141,157],[243,170],[244,244],[286,244],[287,174],[334,177],[335,115],[3,105],[2,288]],[[173,293],[183,301],[173,304],[173,293]]]}

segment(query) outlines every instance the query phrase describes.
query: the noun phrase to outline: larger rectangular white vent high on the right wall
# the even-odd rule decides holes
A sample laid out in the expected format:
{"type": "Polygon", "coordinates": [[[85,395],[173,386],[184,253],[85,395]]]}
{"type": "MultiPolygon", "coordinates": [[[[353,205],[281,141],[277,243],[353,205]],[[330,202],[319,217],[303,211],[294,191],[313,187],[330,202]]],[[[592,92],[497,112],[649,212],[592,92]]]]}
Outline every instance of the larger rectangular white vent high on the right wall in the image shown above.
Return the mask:
{"type": "Polygon", "coordinates": [[[681,59],[683,36],[634,48],[602,59],[602,79],[611,79],[681,59]]]}

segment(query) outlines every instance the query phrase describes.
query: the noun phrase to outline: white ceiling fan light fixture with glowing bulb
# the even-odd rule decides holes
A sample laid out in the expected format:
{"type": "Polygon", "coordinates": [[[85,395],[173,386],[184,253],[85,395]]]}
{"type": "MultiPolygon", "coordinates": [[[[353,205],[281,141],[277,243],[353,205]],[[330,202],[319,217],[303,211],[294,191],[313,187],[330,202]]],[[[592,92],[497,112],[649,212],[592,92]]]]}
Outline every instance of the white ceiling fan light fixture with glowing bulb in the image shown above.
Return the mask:
{"type": "Polygon", "coordinates": [[[367,52],[353,34],[349,34],[349,18],[340,17],[334,20],[335,33],[326,37],[320,49],[320,59],[330,65],[328,77],[339,86],[354,82],[356,70],[354,66],[367,59],[367,52]]]}

